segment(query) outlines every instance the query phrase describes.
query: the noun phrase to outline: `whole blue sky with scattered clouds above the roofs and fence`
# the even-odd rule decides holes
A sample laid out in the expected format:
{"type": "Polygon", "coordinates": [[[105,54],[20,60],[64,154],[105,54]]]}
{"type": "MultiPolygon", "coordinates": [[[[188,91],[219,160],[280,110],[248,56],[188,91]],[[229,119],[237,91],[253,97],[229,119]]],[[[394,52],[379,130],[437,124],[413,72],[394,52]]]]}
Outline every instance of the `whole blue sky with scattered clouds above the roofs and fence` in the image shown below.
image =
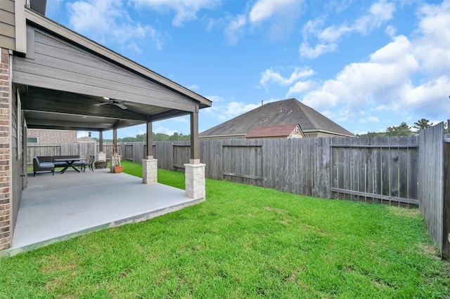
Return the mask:
{"type": "Polygon", "coordinates": [[[212,100],[200,131],[287,98],[352,133],[450,118],[450,0],[48,0],[46,15],[212,100]]]}

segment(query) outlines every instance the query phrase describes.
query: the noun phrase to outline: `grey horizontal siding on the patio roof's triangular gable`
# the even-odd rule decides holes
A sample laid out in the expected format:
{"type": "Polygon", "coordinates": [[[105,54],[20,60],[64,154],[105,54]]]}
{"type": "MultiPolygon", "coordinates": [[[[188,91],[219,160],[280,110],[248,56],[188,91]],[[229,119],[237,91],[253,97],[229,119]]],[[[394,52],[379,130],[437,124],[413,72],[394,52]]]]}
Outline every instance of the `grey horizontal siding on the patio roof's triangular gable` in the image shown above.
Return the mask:
{"type": "Polygon", "coordinates": [[[193,112],[194,102],[47,32],[27,25],[27,57],[13,63],[15,83],[107,96],[193,112]]]}

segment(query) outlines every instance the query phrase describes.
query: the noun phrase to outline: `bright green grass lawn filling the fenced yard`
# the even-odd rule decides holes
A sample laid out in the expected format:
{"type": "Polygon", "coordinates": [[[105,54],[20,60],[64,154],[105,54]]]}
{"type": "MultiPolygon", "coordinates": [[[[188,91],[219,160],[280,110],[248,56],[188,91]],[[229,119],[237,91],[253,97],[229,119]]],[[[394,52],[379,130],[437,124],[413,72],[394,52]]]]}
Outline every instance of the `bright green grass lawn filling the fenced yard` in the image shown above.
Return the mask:
{"type": "MultiPolygon", "coordinates": [[[[124,172],[141,166],[124,161],[124,172]]],[[[184,174],[158,170],[184,187],[184,174]]],[[[206,180],[182,211],[0,259],[0,298],[446,298],[417,209],[206,180]]],[[[125,200],[126,204],[126,200],[125,200]]]]}

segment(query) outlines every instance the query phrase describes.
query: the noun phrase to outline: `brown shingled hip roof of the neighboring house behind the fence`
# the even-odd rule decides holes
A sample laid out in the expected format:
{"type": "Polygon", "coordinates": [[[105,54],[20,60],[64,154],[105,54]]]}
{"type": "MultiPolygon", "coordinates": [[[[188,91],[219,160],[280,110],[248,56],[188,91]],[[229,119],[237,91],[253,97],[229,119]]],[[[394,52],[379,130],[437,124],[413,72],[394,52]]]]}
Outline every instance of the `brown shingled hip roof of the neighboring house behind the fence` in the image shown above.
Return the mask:
{"type": "Polygon", "coordinates": [[[299,124],[304,135],[354,136],[342,126],[295,98],[269,102],[199,134],[201,138],[244,137],[255,126],[299,124]]]}

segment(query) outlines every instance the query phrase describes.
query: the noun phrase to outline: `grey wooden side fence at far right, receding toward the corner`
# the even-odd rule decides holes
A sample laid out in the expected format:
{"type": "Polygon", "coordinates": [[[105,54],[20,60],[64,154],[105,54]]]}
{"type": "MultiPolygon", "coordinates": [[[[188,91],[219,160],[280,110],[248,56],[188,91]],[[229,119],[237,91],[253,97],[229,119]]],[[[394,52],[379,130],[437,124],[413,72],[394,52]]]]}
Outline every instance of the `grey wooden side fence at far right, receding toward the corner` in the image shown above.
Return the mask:
{"type": "MultiPolygon", "coordinates": [[[[428,232],[443,252],[444,239],[444,124],[419,133],[418,198],[428,232]]],[[[448,199],[446,205],[448,206],[448,199]]]]}

